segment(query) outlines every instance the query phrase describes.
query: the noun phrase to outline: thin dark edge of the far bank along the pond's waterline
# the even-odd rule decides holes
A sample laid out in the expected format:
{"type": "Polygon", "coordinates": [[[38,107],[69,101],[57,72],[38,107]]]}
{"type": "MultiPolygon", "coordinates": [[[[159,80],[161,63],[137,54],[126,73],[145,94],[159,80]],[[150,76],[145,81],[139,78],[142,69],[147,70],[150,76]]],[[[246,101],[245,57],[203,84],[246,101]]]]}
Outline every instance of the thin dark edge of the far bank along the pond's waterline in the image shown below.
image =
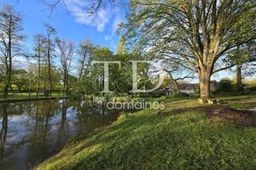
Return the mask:
{"type": "Polygon", "coordinates": [[[36,101],[36,100],[61,100],[61,99],[68,99],[67,97],[32,97],[32,98],[7,98],[7,99],[0,99],[0,104],[8,104],[8,103],[15,103],[15,102],[22,102],[22,101],[36,101]]]}

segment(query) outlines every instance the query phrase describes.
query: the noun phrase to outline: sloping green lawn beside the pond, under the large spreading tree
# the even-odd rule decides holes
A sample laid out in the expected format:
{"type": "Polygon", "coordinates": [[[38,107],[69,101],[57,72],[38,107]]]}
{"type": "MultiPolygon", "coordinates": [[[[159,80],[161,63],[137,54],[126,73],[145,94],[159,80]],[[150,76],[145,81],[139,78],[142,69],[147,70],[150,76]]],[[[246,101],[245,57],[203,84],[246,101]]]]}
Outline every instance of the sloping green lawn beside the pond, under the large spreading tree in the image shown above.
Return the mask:
{"type": "Polygon", "coordinates": [[[256,166],[255,96],[223,98],[218,106],[195,99],[164,110],[122,114],[87,137],[70,140],[38,169],[235,168],[256,166]]]}

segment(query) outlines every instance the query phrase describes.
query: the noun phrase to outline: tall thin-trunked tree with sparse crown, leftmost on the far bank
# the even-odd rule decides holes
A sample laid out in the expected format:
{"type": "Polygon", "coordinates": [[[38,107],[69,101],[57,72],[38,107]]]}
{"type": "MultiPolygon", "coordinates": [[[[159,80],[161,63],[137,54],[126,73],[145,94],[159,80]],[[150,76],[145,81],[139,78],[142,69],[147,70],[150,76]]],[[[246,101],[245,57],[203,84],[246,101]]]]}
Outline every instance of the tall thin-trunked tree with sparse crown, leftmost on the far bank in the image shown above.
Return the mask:
{"type": "Polygon", "coordinates": [[[4,5],[0,11],[0,58],[5,63],[4,98],[8,97],[12,80],[12,59],[22,55],[22,17],[12,6],[4,5]]]}

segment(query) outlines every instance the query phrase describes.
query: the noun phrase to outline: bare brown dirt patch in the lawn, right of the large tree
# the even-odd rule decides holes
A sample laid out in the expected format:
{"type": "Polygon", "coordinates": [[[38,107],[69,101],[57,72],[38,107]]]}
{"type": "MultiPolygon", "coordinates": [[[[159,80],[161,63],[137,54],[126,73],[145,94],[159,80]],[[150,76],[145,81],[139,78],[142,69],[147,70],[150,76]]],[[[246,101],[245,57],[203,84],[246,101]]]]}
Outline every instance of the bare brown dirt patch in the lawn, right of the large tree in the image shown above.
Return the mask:
{"type": "Polygon", "coordinates": [[[218,107],[209,110],[202,108],[213,121],[234,121],[246,127],[256,127],[256,111],[236,110],[230,107],[218,107]]]}

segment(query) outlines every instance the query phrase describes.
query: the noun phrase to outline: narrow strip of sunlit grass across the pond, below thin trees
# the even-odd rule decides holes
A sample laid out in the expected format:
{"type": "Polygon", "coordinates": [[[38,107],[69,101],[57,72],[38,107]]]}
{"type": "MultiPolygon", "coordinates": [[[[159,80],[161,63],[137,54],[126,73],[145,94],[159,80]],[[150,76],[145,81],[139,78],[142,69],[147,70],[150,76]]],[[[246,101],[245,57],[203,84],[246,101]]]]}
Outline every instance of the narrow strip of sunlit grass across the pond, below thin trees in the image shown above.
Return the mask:
{"type": "MultiPolygon", "coordinates": [[[[2,93],[0,93],[2,96],[2,93]]],[[[30,101],[30,100],[54,100],[54,99],[63,99],[68,98],[60,93],[52,93],[51,97],[36,97],[36,93],[9,93],[9,97],[7,99],[0,98],[0,104],[4,103],[12,103],[12,102],[19,102],[19,101],[30,101]]]]}

